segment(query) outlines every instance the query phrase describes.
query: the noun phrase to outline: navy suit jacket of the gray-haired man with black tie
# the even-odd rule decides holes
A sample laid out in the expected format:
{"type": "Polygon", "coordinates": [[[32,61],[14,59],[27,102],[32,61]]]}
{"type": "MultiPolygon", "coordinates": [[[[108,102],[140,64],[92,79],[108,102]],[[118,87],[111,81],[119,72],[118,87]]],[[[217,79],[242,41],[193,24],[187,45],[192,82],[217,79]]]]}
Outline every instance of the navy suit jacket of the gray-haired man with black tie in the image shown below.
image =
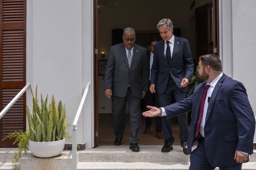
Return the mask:
{"type": "Polygon", "coordinates": [[[170,73],[176,85],[183,92],[188,92],[188,85],[186,87],[180,87],[180,84],[183,78],[190,80],[194,71],[194,62],[188,40],[181,37],[174,37],[175,40],[170,65],[168,65],[164,55],[164,40],[154,45],[151,84],[156,86],[156,92],[158,94],[165,91],[170,73]]]}

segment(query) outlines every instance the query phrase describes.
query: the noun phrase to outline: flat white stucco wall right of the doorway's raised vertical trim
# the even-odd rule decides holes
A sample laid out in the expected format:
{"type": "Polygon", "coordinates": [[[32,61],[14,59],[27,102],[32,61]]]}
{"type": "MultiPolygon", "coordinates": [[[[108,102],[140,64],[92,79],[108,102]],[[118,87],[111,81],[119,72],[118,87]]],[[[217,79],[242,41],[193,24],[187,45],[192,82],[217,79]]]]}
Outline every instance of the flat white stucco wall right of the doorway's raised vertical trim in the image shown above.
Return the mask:
{"type": "Polygon", "coordinates": [[[256,113],[256,1],[232,1],[234,79],[241,81],[256,113]]]}

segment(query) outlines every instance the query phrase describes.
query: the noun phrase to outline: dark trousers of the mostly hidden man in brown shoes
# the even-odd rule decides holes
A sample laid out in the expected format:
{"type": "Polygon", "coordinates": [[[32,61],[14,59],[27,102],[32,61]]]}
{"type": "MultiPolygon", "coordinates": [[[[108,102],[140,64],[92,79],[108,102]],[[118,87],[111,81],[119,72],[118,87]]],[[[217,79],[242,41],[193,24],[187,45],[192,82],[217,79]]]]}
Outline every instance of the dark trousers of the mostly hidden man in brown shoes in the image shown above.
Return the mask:
{"type": "MultiPolygon", "coordinates": [[[[148,87],[150,87],[150,82],[148,83],[148,87]]],[[[146,92],[145,97],[141,100],[143,111],[149,110],[147,106],[155,106],[159,107],[158,97],[156,93],[151,93],[148,89],[148,92],[146,92]]],[[[145,117],[146,120],[146,128],[152,125],[152,118],[151,117],[145,117]]],[[[162,117],[156,116],[156,131],[162,131],[162,117]]]]}

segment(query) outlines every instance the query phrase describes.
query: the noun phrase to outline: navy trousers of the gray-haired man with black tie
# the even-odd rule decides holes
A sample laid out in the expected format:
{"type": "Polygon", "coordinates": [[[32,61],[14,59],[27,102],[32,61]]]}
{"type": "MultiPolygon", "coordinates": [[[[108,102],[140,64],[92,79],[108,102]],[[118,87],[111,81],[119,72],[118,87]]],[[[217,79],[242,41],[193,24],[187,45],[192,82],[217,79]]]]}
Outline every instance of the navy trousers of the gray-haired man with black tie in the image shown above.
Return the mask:
{"type": "MultiPolygon", "coordinates": [[[[165,91],[162,94],[158,95],[158,101],[160,107],[168,106],[171,104],[172,95],[174,96],[176,102],[184,100],[186,98],[186,92],[180,90],[180,88],[175,84],[172,78],[169,78],[168,85],[165,91]]],[[[179,126],[180,126],[180,140],[188,140],[188,125],[187,125],[187,117],[188,113],[184,113],[182,115],[177,116],[179,126]]],[[[173,144],[174,137],[172,136],[172,127],[171,127],[171,119],[166,119],[162,117],[163,123],[163,135],[164,135],[164,143],[173,144]]]]}

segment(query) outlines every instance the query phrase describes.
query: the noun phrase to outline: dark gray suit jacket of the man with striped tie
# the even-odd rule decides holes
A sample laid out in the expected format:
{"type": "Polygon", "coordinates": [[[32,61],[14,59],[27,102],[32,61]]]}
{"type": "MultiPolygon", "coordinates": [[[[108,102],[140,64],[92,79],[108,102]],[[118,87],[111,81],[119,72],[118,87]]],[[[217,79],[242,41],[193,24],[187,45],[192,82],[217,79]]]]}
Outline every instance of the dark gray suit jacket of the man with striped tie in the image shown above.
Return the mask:
{"type": "Polygon", "coordinates": [[[148,91],[146,48],[134,45],[129,69],[124,44],[116,44],[109,49],[104,90],[112,89],[114,96],[124,97],[129,83],[133,97],[141,97],[142,91],[148,91]]]}

